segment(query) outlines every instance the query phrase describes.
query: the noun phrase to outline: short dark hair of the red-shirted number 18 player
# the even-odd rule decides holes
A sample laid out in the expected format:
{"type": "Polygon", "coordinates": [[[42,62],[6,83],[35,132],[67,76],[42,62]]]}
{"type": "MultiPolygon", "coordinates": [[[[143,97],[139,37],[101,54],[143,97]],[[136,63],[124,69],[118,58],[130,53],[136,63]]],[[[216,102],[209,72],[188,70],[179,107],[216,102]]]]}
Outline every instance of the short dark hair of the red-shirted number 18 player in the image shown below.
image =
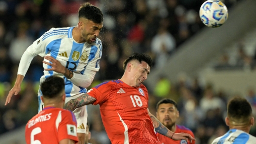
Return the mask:
{"type": "Polygon", "coordinates": [[[142,61],[146,62],[149,67],[151,68],[152,67],[152,59],[150,58],[149,55],[147,54],[144,54],[144,53],[134,53],[132,56],[128,57],[125,61],[124,61],[124,64],[123,64],[123,67],[124,67],[124,70],[126,69],[126,66],[128,64],[129,61],[131,60],[138,60],[140,63],[142,61]]]}

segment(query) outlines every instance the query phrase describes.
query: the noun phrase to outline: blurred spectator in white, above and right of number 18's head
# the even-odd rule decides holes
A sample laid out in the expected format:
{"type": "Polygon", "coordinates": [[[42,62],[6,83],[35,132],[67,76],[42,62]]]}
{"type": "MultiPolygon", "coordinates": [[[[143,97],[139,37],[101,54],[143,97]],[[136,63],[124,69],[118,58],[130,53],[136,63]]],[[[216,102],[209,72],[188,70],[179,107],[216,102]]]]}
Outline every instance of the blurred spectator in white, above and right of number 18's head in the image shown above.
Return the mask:
{"type": "Polygon", "coordinates": [[[174,52],[176,47],[176,41],[174,37],[167,31],[166,28],[160,27],[158,34],[153,37],[151,43],[152,52],[156,54],[157,68],[162,68],[168,58],[169,54],[174,52]]]}

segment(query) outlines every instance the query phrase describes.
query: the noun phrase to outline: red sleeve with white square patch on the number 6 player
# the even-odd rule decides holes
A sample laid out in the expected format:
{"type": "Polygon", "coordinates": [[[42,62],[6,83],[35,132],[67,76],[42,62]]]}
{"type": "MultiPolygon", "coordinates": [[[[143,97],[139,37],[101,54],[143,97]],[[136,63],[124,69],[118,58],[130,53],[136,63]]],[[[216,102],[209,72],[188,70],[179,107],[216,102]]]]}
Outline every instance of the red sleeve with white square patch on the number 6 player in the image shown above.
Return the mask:
{"type": "MultiPolygon", "coordinates": [[[[63,110],[61,113],[61,118],[62,120],[57,129],[59,142],[64,139],[71,139],[77,143],[77,120],[75,115],[71,111],[63,110]]],[[[58,118],[56,121],[57,126],[58,118]]]]}

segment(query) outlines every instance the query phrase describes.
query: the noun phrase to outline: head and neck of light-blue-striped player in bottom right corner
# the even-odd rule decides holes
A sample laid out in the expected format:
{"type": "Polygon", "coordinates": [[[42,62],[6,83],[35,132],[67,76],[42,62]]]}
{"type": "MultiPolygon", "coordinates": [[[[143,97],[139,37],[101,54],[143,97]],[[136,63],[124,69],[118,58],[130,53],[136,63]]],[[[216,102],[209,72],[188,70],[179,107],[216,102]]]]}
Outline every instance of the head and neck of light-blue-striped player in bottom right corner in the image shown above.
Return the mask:
{"type": "Polygon", "coordinates": [[[244,98],[235,97],[227,104],[226,125],[229,128],[247,127],[254,125],[251,104],[244,98]]]}

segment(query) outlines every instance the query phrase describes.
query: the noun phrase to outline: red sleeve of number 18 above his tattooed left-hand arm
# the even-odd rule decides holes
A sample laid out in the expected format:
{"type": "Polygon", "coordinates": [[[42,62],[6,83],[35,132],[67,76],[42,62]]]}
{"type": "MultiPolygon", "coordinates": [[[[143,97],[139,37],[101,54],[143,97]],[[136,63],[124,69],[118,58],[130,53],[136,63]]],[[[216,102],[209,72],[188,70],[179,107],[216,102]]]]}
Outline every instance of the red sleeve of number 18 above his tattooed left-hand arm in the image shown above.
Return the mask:
{"type": "Polygon", "coordinates": [[[93,103],[96,105],[108,100],[110,88],[111,84],[109,84],[109,82],[104,82],[88,90],[87,94],[96,99],[93,103]]]}

